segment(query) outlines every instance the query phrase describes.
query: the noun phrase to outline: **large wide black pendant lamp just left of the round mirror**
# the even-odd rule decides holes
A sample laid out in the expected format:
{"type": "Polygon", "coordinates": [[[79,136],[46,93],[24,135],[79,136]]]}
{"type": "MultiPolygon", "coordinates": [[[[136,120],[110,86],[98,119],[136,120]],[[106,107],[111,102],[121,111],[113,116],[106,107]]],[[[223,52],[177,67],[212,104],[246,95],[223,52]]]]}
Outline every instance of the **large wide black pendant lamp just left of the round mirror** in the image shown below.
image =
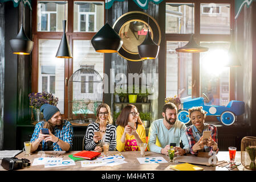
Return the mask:
{"type": "MultiPolygon", "coordinates": [[[[107,1],[108,3],[108,1],[107,1]]],[[[108,6],[108,4],[107,4],[108,6]]],[[[113,53],[119,51],[123,45],[123,40],[108,24],[108,9],[107,9],[107,22],[91,40],[92,46],[96,52],[113,53]]]]}

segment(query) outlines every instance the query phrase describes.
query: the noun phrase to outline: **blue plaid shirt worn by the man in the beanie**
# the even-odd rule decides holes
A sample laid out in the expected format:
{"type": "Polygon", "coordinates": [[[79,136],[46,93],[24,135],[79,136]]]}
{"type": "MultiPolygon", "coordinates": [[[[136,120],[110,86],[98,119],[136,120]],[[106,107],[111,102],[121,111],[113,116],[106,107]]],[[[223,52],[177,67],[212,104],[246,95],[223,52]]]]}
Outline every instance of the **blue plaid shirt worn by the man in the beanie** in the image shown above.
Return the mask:
{"type": "MultiPolygon", "coordinates": [[[[35,130],[34,130],[34,133],[32,134],[32,138],[30,142],[34,142],[38,138],[38,135],[40,134],[40,130],[42,129],[43,125],[44,125],[44,121],[39,122],[35,125],[35,130]]],[[[70,150],[71,150],[72,144],[73,144],[73,126],[69,121],[66,121],[66,120],[64,121],[62,129],[58,129],[58,127],[55,127],[52,134],[54,134],[55,137],[58,137],[64,142],[69,143],[70,150]]],[[[53,144],[54,151],[62,150],[57,143],[52,143],[52,144],[53,144]]],[[[47,149],[48,149],[47,142],[44,142],[44,140],[42,140],[42,150],[45,151],[47,149]]]]}

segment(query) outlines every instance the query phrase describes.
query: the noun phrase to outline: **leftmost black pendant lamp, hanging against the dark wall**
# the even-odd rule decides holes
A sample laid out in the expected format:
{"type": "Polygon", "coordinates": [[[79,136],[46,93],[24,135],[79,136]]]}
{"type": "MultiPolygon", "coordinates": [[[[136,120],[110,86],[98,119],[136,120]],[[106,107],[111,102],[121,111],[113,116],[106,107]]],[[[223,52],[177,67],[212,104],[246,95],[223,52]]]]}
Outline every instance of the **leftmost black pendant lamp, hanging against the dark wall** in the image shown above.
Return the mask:
{"type": "Polygon", "coordinates": [[[19,30],[18,35],[10,40],[10,46],[13,50],[13,53],[17,55],[30,55],[34,42],[32,42],[26,35],[23,28],[23,5],[21,1],[21,29],[19,30]]]}

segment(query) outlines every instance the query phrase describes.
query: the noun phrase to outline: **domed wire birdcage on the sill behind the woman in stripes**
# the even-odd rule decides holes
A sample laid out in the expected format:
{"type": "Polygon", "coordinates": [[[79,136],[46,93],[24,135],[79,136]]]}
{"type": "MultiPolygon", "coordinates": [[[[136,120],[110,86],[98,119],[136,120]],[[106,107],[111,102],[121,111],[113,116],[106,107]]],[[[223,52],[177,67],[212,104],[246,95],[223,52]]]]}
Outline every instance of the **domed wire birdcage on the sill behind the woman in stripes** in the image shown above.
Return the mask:
{"type": "Polygon", "coordinates": [[[68,121],[91,122],[103,102],[103,79],[95,69],[80,68],[68,80],[68,121]]]}

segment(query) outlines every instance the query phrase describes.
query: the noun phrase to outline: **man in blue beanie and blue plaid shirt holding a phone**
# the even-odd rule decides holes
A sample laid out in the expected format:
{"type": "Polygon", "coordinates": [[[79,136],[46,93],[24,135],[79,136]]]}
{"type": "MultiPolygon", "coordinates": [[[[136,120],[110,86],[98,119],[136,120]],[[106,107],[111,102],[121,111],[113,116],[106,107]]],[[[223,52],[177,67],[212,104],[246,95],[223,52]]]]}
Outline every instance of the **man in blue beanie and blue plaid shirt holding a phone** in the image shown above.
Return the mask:
{"type": "Polygon", "coordinates": [[[42,150],[69,151],[73,143],[73,127],[70,122],[61,119],[58,107],[44,104],[40,107],[45,121],[35,125],[34,133],[30,142],[31,152],[39,149],[42,143],[42,150]],[[43,134],[41,129],[46,128],[49,134],[43,134]]]}

